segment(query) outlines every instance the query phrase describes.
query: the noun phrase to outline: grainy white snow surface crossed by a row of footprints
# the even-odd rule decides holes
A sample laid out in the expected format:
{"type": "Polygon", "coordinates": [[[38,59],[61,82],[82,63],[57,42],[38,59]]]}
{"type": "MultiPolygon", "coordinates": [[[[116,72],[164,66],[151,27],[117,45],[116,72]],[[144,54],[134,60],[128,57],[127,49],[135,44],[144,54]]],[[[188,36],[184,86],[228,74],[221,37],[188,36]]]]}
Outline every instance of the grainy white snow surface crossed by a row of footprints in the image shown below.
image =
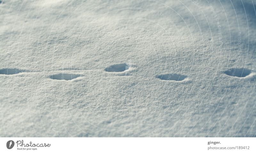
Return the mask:
{"type": "Polygon", "coordinates": [[[1,137],[254,137],[256,1],[2,0],[1,137]]]}

